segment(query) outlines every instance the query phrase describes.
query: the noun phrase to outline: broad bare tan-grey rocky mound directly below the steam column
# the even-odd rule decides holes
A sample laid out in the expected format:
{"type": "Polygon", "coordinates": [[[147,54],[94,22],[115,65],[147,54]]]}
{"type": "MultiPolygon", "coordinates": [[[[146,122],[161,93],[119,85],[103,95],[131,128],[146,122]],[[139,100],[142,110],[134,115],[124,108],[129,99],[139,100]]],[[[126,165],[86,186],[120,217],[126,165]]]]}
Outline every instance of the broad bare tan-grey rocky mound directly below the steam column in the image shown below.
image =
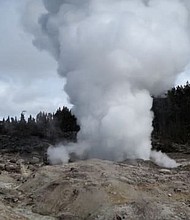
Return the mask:
{"type": "Polygon", "coordinates": [[[188,219],[189,182],[180,167],[88,160],[42,167],[20,190],[31,193],[33,212],[58,219],[188,219]]]}

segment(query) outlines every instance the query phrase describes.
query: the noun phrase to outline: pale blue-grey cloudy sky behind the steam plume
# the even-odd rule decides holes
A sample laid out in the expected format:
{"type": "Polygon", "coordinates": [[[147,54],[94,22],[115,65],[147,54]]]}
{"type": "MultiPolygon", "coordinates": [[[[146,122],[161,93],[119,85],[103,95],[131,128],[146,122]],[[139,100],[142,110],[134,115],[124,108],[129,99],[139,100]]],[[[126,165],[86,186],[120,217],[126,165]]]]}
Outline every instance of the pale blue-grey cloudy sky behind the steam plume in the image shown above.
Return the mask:
{"type": "MultiPolygon", "coordinates": [[[[64,79],[56,62],[32,45],[32,36],[23,31],[20,16],[26,0],[0,0],[0,118],[53,112],[67,105],[64,79]]],[[[184,72],[176,84],[190,81],[184,72]]]]}

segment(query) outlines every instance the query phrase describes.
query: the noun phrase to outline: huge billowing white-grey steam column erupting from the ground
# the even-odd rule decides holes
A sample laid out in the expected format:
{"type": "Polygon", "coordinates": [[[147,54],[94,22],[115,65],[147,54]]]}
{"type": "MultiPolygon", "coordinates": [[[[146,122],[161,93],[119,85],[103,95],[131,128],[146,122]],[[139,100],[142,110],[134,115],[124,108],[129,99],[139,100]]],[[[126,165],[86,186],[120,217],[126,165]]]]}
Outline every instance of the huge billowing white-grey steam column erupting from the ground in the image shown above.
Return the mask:
{"type": "Polygon", "coordinates": [[[43,0],[30,17],[35,4],[26,7],[25,26],[56,59],[81,126],[78,143],[48,150],[52,163],[75,152],[176,166],[151,151],[151,95],[173,86],[189,62],[188,1],[43,0]]]}

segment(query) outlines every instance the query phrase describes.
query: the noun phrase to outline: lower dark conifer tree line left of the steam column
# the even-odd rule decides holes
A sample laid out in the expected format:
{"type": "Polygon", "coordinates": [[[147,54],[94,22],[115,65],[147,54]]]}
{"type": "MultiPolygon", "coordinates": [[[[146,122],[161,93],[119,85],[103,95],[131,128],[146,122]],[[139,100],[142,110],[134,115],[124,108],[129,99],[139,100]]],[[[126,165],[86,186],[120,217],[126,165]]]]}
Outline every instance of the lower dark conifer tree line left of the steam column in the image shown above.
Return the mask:
{"type": "Polygon", "coordinates": [[[55,113],[39,112],[36,117],[25,119],[24,112],[20,118],[8,117],[0,122],[0,134],[19,137],[38,136],[56,140],[60,138],[76,140],[80,130],[76,117],[67,107],[59,108],[55,113]]]}

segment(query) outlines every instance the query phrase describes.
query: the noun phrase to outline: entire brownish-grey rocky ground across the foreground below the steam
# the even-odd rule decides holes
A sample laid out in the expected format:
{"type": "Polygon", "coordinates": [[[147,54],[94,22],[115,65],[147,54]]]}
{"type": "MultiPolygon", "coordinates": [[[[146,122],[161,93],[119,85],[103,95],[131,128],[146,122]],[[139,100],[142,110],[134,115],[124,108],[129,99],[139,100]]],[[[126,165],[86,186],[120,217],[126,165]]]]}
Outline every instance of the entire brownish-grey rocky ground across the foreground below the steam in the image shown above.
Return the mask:
{"type": "Polygon", "coordinates": [[[42,155],[0,151],[0,220],[190,219],[190,154],[170,154],[175,169],[142,160],[50,166],[42,155]]]}

